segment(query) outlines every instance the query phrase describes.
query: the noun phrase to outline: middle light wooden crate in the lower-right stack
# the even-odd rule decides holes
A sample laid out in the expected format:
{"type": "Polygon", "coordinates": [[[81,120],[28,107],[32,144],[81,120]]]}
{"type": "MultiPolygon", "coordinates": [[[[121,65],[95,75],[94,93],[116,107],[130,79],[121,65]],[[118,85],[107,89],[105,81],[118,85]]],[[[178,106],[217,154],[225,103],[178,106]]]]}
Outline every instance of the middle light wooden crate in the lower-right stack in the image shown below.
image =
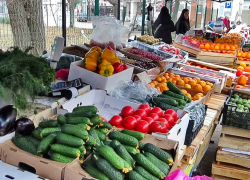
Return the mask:
{"type": "Polygon", "coordinates": [[[250,168],[250,156],[249,155],[236,154],[236,153],[218,150],[216,154],[216,161],[217,161],[217,164],[220,164],[221,162],[223,162],[223,163],[235,164],[238,166],[250,168]]]}

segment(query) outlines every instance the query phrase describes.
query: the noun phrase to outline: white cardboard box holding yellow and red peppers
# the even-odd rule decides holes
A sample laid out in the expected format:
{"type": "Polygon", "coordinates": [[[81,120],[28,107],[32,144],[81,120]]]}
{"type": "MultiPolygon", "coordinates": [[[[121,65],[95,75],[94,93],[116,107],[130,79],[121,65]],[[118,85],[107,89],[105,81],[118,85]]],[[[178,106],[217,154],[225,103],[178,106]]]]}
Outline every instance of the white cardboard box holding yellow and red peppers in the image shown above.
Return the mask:
{"type": "Polygon", "coordinates": [[[92,88],[103,89],[108,93],[118,84],[121,80],[131,80],[134,68],[129,67],[128,69],[114,74],[109,77],[101,76],[95,72],[81,68],[78,65],[82,64],[82,61],[71,63],[68,80],[74,80],[81,78],[84,83],[89,84],[92,88]]]}

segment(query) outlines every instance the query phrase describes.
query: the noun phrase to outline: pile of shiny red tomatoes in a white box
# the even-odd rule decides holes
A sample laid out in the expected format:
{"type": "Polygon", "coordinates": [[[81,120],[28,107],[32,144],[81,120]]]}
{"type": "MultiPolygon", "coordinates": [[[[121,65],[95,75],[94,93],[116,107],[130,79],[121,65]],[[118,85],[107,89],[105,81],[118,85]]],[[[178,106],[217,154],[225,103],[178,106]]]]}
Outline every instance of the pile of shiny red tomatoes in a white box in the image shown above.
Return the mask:
{"type": "Polygon", "coordinates": [[[141,104],[137,110],[125,106],[119,115],[113,116],[109,123],[121,129],[139,131],[142,133],[167,133],[177,122],[176,111],[168,109],[165,112],[148,104],[141,104]]]}

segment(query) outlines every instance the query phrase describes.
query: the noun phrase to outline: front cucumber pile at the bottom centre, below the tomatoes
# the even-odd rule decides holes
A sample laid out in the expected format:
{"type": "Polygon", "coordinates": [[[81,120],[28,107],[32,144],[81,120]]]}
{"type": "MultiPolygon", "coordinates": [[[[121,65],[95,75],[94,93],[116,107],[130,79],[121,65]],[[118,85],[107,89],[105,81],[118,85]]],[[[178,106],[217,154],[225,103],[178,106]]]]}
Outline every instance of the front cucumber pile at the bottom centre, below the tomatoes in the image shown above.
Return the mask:
{"type": "Polygon", "coordinates": [[[173,157],[153,144],[140,142],[144,139],[143,133],[113,131],[108,138],[82,165],[92,177],[99,180],[159,180],[168,175],[173,157]]]}

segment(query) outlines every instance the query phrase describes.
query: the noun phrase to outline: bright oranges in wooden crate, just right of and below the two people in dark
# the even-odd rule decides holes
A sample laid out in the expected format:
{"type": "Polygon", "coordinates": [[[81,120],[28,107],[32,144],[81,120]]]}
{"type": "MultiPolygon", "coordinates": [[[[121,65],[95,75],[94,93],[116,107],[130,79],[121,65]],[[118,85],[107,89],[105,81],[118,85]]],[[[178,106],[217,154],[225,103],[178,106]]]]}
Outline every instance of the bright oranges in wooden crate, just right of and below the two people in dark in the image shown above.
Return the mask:
{"type": "Polygon", "coordinates": [[[234,54],[238,49],[237,44],[216,44],[216,43],[206,43],[201,44],[200,49],[204,52],[215,52],[215,53],[223,53],[223,54],[234,54]]]}

